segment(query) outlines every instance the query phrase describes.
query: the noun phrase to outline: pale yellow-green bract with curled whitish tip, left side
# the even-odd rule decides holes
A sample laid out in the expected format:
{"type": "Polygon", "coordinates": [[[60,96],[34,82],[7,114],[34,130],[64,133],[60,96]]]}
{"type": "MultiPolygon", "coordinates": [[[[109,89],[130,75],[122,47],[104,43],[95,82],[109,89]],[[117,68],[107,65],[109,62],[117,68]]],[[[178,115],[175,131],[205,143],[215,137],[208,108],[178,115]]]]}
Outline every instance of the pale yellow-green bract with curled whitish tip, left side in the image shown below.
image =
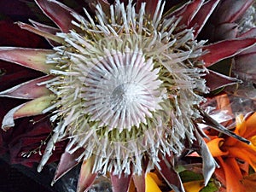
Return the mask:
{"type": "Polygon", "coordinates": [[[20,106],[11,109],[4,117],[2,122],[3,131],[7,131],[10,127],[15,126],[15,119],[34,116],[44,113],[44,109],[52,105],[55,96],[41,96],[30,102],[21,104],[20,106]]]}

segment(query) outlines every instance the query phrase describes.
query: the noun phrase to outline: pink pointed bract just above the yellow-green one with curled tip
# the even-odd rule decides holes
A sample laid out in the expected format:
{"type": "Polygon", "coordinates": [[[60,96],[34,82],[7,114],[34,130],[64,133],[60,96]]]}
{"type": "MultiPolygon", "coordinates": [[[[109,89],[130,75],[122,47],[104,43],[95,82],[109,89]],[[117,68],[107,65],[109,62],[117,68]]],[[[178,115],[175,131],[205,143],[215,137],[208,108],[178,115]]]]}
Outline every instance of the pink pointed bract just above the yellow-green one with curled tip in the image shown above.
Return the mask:
{"type": "Polygon", "coordinates": [[[23,84],[18,84],[9,90],[4,90],[0,92],[0,96],[7,96],[11,98],[19,99],[35,99],[40,96],[49,95],[51,91],[47,89],[44,85],[38,85],[41,82],[52,79],[52,76],[44,76],[38,79],[32,79],[23,84]]]}

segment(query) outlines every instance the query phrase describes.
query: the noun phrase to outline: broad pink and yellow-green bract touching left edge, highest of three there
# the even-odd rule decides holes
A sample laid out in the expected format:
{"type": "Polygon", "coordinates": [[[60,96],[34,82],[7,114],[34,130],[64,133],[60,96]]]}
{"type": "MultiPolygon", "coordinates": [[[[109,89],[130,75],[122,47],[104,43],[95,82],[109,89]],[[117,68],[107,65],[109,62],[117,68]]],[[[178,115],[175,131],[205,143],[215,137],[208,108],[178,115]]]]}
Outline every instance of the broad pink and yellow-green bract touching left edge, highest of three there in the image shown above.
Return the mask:
{"type": "Polygon", "coordinates": [[[46,64],[46,57],[53,54],[49,49],[26,49],[26,48],[0,48],[0,59],[3,61],[14,62],[20,66],[29,67],[43,73],[49,73],[49,70],[55,68],[46,64]]]}

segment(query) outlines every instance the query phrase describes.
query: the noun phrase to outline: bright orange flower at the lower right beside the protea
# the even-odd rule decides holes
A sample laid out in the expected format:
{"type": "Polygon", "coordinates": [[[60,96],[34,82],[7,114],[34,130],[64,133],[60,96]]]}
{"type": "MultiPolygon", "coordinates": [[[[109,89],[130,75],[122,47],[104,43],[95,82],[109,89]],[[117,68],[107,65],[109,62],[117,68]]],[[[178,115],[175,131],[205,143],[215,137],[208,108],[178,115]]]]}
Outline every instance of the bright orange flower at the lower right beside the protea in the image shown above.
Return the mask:
{"type": "Polygon", "coordinates": [[[234,132],[247,138],[251,144],[242,143],[233,137],[211,137],[207,146],[220,166],[215,172],[218,180],[226,186],[227,191],[243,192],[247,191],[241,183],[243,176],[248,174],[247,164],[256,171],[256,113],[248,118],[238,115],[234,132]],[[241,164],[238,160],[244,163],[241,164]]]}

